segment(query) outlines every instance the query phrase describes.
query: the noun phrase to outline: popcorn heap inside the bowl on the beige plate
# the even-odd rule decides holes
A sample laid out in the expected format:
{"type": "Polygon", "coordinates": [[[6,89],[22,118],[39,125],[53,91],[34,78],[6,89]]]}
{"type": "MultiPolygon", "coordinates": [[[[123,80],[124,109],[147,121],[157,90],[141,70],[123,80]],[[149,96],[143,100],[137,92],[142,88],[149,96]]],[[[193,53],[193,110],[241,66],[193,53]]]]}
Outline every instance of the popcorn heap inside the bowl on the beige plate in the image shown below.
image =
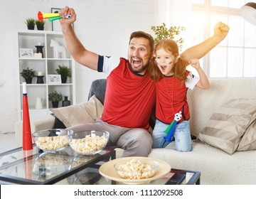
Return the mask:
{"type": "Polygon", "coordinates": [[[154,165],[142,163],[136,159],[116,166],[119,176],[130,180],[151,178],[156,174],[156,169],[154,168],[154,165]]]}

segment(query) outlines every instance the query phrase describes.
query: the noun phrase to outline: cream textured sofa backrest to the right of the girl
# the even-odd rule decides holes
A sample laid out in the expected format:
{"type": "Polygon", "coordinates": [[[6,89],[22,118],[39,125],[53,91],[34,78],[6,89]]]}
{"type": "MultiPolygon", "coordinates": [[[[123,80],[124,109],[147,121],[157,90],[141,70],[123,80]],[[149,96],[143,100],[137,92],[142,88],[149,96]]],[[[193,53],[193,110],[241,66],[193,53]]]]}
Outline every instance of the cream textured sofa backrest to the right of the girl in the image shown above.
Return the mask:
{"type": "Polygon", "coordinates": [[[188,89],[191,134],[198,136],[215,109],[229,99],[256,99],[256,78],[209,78],[210,89],[188,89]]]}

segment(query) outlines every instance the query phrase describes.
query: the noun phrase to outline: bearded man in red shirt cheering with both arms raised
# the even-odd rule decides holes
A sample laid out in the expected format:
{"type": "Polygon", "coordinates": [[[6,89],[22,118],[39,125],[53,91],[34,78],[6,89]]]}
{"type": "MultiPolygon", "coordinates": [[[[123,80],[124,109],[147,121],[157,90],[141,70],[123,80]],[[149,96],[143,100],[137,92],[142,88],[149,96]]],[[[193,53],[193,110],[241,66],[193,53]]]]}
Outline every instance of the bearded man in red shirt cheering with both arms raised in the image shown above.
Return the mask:
{"type": "MultiPolygon", "coordinates": [[[[70,55],[87,68],[105,72],[107,87],[101,119],[94,124],[70,127],[73,131],[105,130],[110,132],[108,146],[124,149],[123,156],[148,156],[152,137],[149,134],[149,117],[156,99],[155,84],[146,73],[154,39],[147,33],[137,31],[129,40],[128,60],[101,56],[87,50],[75,35],[71,24],[76,20],[74,9],[66,6],[59,11],[60,25],[70,55]],[[70,14],[70,19],[65,16],[70,14]]],[[[202,58],[227,36],[228,26],[218,23],[214,36],[189,48],[181,54],[183,60],[202,58]]]]}

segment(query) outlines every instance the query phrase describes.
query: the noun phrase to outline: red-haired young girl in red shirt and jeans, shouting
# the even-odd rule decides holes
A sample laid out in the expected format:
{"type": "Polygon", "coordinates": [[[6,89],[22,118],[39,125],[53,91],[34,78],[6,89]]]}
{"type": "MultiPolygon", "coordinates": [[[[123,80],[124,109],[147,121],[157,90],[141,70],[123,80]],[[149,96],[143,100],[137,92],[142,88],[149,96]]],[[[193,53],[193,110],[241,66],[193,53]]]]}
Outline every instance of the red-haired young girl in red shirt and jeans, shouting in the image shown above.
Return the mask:
{"type": "Polygon", "coordinates": [[[176,123],[171,141],[175,139],[177,151],[191,151],[191,134],[189,128],[189,109],[186,97],[188,88],[210,87],[208,78],[200,67],[198,59],[189,61],[198,72],[199,78],[186,70],[178,55],[178,45],[171,39],[163,39],[156,44],[154,57],[149,66],[149,75],[156,81],[156,125],[153,131],[153,148],[164,148],[170,141],[164,131],[174,121],[174,115],[181,113],[176,123]]]}

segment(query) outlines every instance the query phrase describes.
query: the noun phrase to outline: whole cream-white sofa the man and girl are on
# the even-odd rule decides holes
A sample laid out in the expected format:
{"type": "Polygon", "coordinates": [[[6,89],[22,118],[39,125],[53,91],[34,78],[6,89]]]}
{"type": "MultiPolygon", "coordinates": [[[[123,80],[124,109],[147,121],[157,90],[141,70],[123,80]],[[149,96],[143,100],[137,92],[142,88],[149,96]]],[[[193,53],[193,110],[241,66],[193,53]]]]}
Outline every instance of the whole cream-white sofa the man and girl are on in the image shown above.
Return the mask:
{"type": "MultiPolygon", "coordinates": [[[[256,99],[256,78],[210,79],[210,90],[194,89],[188,91],[191,112],[191,134],[198,136],[206,127],[208,119],[229,99],[256,99]]],[[[256,104],[255,104],[256,106],[256,104]]],[[[54,119],[31,122],[31,131],[53,128],[54,119]]],[[[22,123],[16,123],[16,140],[21,143],[22,123]]],[[[117,157],[122,149],[116,149],[117,157]]],[[[230,155],[210,146],[199,139],[193,140],[193,151],[178,152],[174,142],[165,149],[152,149],[151,158],[160,158],[171,168],[201,171],[201,184],[256,184],[256,150],[235,151],[230,155]]]]}

